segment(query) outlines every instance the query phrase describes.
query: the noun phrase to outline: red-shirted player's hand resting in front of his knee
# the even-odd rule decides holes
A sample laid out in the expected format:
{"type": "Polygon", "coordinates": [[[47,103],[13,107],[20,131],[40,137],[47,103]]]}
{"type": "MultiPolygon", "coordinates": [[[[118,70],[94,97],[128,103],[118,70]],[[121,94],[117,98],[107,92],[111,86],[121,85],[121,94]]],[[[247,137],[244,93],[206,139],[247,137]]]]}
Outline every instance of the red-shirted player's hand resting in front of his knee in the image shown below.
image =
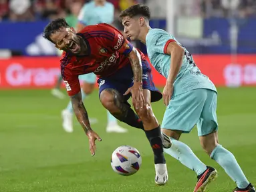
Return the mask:
{"type": "Polygon", "coordinates": [[[142,108],[144,106],[145,100],[143,96],[142,83],[134,83],[132,87],[127,89],[124,95],[128,95],[128,93],[132,93],[132,104],[136,109],[142,108]]]}

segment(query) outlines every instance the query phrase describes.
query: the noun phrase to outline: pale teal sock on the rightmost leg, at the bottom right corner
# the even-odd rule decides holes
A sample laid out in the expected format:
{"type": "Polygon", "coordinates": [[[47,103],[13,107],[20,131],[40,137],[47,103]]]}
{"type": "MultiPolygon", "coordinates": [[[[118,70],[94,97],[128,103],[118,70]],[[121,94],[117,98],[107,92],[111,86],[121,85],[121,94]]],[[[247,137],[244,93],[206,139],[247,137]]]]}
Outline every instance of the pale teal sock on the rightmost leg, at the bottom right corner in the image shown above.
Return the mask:
{"type": "Polygon", "coordinates": [[[227,175],[237,183],[237,187],[244,189],[249,185],[249,181],[246,179],[241,167],[230,151],[227,151],[221,145],[217,145],[211,153],[211,158],[223,167],[227,175]]]}

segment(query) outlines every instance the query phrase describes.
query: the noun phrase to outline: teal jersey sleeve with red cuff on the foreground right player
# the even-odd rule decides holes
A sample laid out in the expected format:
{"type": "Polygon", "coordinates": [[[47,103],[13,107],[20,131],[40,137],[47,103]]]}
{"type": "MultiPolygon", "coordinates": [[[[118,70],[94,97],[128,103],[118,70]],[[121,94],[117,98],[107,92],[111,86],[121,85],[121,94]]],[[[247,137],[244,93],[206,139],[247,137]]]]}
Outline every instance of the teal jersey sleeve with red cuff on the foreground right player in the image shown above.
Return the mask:
{"type": "Polygon", "coordinates": [[[176,41],[172,35],[162,30],[150,31],[147,41],[150,43],[153,51],[166,54],[166,49],[170,42],[176,41]]]}

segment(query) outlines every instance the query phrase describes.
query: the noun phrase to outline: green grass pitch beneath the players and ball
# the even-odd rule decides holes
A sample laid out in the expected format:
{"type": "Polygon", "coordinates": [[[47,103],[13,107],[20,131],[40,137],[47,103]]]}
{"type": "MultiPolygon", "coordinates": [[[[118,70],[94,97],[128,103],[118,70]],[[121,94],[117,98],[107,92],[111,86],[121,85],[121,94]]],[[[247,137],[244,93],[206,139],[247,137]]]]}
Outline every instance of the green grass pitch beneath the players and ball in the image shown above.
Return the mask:
{"type": "MultiPolygon", "coordinates": [[[[251,183],[256,185],[256,89],[219,88],[219,141],[237,158],[251,183]]],[[[1,192],[114,192],[114,191],[193,191],[197,177],[194,171],[165,155],[169,181],[164,187],[154,184],[152,149],[144,133],[106,133],[106,110],[94,91],[84,101],[90,117],[98,118],[92,128],[102,137],[91,157],[88,139],[74,117],[74,133],[61,128],[61,109],[66,100],[51,96],[49,90],[0,91],[0,191],[1,192]],[[112,151],[120,145],[136,147],[142,155],[142,167],[135,175],[117,175],[110,166],[112,151]]],[[[161,122],[162,101],[152,105],[161,122]]],[[[225,171],[203,152],[196,128],[182,135],[207,165],[219,171],[219,177],[208,191],[232,191],[235,183],[225,171]]]]}

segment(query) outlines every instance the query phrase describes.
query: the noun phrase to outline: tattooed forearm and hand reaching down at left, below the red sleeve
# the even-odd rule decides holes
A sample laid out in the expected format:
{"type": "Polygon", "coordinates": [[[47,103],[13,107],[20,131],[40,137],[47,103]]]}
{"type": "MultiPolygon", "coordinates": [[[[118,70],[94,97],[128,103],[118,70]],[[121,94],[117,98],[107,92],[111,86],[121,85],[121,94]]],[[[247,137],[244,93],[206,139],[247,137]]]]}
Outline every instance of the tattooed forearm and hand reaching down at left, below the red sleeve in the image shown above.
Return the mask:
{"type": "Polygon", "coordinates": [[[102,141],[102,139],[100,139],[99,135],[95,133],[91,128],[88,113],[82,101],[81,92],[76,95],[70,96],[70,100],[72,102],[72,107],[74,109],[74,113],[76,114],[76,118],[78,119],[79,123],[82,125],[84,131],[86,132],[86,135],[88,136],[90,151],[92,156],[94,156],[96,151],[95,140],[102,141]]]}

